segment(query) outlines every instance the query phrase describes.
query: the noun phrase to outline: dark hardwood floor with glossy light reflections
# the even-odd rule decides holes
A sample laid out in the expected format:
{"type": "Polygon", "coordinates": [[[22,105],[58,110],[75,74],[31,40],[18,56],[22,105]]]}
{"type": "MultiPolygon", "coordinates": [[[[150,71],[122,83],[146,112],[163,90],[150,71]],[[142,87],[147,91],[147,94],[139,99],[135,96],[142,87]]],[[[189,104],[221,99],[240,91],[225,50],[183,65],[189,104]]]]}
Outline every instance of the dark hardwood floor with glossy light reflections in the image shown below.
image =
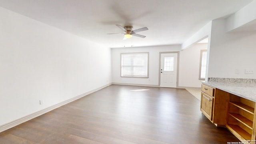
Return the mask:
{"type": "Polygon", "coordinates": [[[185,89],[111,85],[0,133],[0,144],[227,144],[185,89]]]}

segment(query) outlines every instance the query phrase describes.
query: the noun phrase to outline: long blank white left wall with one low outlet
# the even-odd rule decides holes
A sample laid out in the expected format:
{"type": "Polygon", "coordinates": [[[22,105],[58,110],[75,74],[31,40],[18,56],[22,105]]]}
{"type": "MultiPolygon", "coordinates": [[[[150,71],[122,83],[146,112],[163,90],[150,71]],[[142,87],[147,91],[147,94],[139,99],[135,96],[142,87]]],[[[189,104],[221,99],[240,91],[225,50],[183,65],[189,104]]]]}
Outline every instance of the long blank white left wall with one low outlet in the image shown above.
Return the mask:
{"type": "Polygon", "coordinates": [[[4,8],[0,17],[0,125],[111,82],[109,48],[4,8]]]}

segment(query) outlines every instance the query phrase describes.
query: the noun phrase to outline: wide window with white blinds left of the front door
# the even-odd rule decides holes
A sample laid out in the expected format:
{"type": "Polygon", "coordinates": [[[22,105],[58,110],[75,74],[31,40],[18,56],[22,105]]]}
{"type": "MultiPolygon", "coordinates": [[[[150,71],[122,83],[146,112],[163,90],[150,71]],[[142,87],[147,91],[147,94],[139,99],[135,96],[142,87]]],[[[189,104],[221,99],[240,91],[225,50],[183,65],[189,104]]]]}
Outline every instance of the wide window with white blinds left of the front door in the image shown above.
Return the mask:
{"type": "Polygon", "coordinates": [[[148,78],[148,54],[121,53],[121,76],[148,78]]]}

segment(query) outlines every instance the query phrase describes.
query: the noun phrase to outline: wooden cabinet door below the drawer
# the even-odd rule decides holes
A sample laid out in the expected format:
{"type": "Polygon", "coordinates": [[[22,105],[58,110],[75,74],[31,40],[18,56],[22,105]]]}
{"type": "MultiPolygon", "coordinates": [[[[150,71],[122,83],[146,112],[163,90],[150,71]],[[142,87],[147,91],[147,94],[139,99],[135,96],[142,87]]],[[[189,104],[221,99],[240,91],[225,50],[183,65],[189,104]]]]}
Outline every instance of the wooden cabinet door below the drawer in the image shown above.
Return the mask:
{"type": "Polygon", "coordinates": [[[213,98],[205,93],[201,93],[201,112],[212,121],[213,98]]]}

